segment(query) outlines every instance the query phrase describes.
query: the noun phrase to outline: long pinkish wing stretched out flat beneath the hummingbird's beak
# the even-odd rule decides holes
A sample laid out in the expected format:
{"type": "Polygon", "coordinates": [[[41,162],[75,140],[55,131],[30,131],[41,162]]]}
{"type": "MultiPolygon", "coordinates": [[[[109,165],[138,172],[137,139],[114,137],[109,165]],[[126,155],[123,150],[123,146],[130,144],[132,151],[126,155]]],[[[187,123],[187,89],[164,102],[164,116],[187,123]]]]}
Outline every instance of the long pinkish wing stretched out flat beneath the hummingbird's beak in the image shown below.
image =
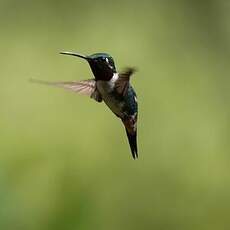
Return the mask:
{"type": "Polygon", "coordinates": [[[96,89],[96,82],[93,79],[83,81],[66,81],[66,82],[48,82],[42,80],[31,79],[32,82],[56,86],[68,90],[72,90],[79,94],[91,96],[96,89]]]}

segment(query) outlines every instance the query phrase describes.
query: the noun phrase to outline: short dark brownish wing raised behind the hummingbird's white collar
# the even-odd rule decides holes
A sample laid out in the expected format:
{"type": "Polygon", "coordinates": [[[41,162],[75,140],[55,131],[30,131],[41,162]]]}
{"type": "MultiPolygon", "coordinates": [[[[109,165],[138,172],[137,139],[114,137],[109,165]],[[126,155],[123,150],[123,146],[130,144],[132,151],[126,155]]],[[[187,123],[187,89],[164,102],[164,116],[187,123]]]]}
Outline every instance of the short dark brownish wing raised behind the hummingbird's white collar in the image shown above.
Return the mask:
{"type": "Polygon", "coordinates": [[[120,95],[125,95],[129,87],[130,76],[136,71],[134,68],[126,68],[123,72],[119,73],[119,77],[115,82],[115,90],[120,95]]]}

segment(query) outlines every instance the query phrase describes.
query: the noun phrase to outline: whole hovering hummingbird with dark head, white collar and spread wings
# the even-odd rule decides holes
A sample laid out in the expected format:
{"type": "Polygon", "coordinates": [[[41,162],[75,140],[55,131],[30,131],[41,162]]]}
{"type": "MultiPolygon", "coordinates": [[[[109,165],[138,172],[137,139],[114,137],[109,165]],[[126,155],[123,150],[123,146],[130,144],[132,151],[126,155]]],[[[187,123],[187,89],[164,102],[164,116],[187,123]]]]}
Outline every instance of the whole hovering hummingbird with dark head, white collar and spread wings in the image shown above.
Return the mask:
{"type": "Polygon", "coordinates": [[[63,82],[32,81],[72,90],[87,95],[99,103],[104,101],[109,109],[121,119],[126,130],[132,157],[137,158],[138,104],[136,93],[130,84],[130,77],[136,69],[128,67],[117,72],[113,58],[107,53],[82,55],[75,52],[60,52],[60,54],[86,60],[94,78],[63,82]]]}

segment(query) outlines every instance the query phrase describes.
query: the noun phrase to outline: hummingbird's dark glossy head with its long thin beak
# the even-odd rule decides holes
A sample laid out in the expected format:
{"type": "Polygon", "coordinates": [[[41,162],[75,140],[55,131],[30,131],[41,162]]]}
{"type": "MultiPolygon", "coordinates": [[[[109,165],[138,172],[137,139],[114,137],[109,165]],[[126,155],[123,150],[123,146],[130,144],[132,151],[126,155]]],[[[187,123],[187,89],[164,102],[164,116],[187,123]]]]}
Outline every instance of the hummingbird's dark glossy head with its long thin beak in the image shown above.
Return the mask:
{"type": "Polygon", "coordinates": [[[96,80],[110,80],[116,73],[113,58],[109,54],[95,53],[88,56],[72,52],[61,52],[60,54],[72,55],[88,61],[96,80]]]}

